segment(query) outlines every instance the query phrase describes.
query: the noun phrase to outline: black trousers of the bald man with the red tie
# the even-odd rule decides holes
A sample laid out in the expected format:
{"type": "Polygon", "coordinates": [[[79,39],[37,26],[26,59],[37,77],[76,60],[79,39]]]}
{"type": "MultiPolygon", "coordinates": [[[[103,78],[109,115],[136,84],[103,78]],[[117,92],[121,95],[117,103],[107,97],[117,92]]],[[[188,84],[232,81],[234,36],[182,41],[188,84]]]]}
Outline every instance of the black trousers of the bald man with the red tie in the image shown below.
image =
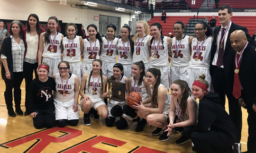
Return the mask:
{"type": "Polygon", "coordinates": [[[246,103],[246,109],[248,113],[248,138],[247,138],[247,151],[256,153],[256,112],[252,109],[253,102],[247,100],[247,97],[242,90],[242,97],[246,103]]]}

